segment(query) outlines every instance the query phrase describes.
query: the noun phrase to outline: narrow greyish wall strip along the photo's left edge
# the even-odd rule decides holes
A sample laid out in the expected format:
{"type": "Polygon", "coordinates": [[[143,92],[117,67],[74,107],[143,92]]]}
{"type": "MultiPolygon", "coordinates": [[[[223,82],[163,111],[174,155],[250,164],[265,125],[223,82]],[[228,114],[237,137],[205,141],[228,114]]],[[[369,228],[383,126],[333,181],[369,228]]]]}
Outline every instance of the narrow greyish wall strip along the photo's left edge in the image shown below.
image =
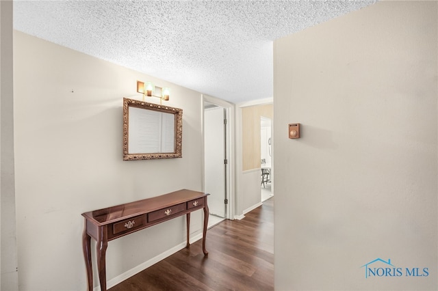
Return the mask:
{"type": "Polygon", "coordinates": [[[1,290],[17,290],[12,1],[0,1],[1,290]]]}

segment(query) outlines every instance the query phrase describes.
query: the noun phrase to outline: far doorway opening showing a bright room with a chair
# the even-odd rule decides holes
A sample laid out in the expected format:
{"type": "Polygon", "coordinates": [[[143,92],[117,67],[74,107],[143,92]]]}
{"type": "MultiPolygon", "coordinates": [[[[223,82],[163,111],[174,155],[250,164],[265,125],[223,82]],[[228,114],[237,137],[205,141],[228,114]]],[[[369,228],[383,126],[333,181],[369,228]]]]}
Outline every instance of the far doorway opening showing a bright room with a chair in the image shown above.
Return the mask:
{"type": "Polygon", "coordinates": [[[260,167],[261,167],[261,202],[274,195],[272,185],[272,121],[268,117],[260,117],[260,167]]]}

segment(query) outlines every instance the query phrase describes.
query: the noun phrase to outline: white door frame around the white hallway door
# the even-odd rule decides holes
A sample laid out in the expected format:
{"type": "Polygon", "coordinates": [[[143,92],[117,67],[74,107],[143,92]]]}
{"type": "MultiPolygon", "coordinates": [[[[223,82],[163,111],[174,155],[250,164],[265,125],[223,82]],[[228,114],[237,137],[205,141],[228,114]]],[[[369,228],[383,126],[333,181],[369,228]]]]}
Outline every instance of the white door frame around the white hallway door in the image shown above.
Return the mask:
{"type": "Polygon", "coordinates": [[[203,191],[205,191],[205,150],[204,150],[204,137],[205,137],[205,128],[204,128],[204,105],[205,102],[208,102],[210,104],[222,107],[225,109],[225,115],[227,117],[227,124],[225,124],[225,158],[227,158],[227,165],[225,165],[225,168],[227,170],[225,180],[227,181],[227,184],[225,185],[225,191],[227,192],[227,195],[225,199],[228,199],[228,204],[225,205],[225,218],[226,219],[234,219],[235,210],[234,210],[234,203],[235,203],[235,152],[234,152],[234,111],[235,107],[233,104],[221,100],[219,98],[214,98],[211,96],[207,96],[205,94],[202,94],[201,97],[201,120],[202,120],[202,143],[203,143],[203,154],[202,154],[202,163],[203,163],[203,171],[202,171],[202,185],[203,185],[203,191]]]}

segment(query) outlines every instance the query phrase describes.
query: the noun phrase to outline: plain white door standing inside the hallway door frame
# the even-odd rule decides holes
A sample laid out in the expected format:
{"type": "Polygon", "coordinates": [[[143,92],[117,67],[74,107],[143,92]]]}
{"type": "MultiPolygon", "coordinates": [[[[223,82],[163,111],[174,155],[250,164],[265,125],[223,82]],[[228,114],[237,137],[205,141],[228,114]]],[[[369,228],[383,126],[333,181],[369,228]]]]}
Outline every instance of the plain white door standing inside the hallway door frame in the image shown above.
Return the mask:
{"type": "Polygon", "coordinates": [[[223,107],[204,109],[205,192],[209,193],[210,214],[225,217],[226,167],[225,124],[223,107]]]}

